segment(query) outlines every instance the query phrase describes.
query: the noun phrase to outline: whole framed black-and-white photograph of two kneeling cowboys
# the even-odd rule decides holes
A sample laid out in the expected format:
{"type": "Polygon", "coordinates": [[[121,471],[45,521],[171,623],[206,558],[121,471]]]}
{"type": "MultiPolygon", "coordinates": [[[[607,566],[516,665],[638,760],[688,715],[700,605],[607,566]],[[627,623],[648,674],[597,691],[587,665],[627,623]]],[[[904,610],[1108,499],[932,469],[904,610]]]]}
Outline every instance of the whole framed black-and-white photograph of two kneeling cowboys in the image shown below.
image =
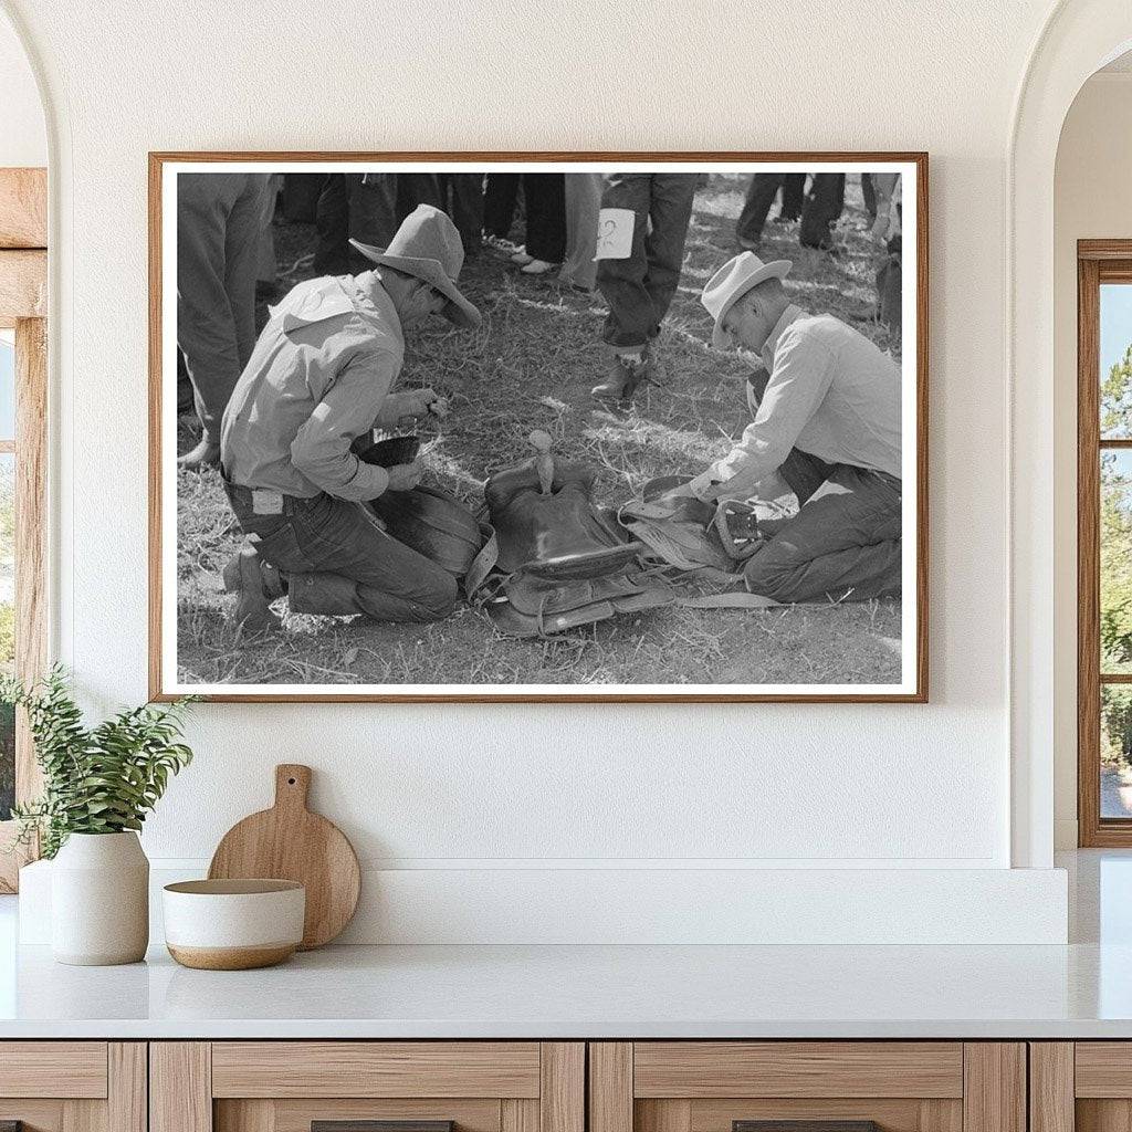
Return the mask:
{"type": "Polygon", "coordinates": [[[154,698],[927,698],[925,154],[149,185],[154,698]]]}

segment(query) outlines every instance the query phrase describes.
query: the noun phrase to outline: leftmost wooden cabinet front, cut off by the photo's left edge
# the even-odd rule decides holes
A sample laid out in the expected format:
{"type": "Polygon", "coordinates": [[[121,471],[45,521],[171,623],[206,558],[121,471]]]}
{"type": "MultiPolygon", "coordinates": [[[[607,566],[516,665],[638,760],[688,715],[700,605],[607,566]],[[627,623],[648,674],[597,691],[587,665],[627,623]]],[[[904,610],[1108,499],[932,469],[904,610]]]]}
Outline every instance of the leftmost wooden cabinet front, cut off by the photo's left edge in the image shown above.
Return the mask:
{"type": "Polygon", "coordinates": [[[145,1043],[0,1043],[8,1121],[24,1132],[145,1132],[145,1043]]]}

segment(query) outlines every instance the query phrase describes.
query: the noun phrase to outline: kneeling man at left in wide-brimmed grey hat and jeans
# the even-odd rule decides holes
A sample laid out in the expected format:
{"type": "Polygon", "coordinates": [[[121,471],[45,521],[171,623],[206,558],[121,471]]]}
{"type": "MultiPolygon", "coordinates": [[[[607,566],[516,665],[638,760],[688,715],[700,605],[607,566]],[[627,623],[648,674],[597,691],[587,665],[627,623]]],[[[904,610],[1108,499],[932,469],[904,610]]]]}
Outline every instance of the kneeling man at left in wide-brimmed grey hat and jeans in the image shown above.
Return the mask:
{"type": "Polygon", "coordinates": [[[460,235],[445,213],[421,205],[387,248],[351,243],[375,269],[308,280],[272,308],[224,413],[221,470],[248,535],[224,582],[248,628],[277,625],[269,603],[284,592],[294,612],[392,621],[438,620],[456,602],[453,576],[366,506],[413,488],[420,464],[378,468],[352,445],[403,417],[446,411],[432,389],[391,388],[405,328],[429,315],[480,325],[456,286],[460,235]]]}

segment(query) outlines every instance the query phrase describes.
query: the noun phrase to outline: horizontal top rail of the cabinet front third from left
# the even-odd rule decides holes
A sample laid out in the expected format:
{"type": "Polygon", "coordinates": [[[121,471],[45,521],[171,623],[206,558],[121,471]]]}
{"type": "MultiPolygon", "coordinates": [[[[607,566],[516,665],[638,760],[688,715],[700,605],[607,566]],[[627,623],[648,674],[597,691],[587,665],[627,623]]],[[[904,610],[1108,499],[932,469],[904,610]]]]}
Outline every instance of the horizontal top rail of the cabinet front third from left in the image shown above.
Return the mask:
{"type": "Polygon", "coordinates": [[[963,1095],[958,1041],[638,1041],[636,1097],[963,1095]]]}

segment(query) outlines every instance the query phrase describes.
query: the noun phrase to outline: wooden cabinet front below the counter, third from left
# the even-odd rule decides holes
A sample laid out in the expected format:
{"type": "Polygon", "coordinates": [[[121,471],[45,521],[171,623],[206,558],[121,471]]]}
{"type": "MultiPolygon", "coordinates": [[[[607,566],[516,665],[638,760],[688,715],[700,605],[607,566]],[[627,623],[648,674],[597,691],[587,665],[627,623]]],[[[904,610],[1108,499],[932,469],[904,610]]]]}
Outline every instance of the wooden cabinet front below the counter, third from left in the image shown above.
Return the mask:
{"type": "Polygon", "coordinates": [[[809,1132],[1026,1132],[1026,1048],[959,1041],[590,1046],[590,1132],[773,1132],[758,1122],[783,1121],[806,1122],[794,1132],[807,1125],[809,1132]]]}

